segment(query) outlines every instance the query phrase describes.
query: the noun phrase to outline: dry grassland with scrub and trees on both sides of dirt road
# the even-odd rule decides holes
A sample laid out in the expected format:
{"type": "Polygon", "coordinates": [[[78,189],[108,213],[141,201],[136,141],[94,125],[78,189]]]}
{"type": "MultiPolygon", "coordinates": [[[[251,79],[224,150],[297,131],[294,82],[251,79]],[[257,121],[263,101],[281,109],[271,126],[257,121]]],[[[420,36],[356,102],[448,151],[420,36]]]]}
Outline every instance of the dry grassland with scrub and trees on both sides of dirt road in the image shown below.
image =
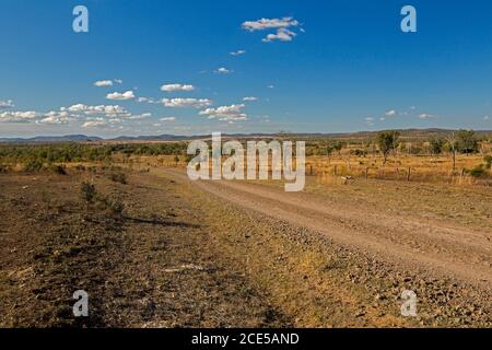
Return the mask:
{"type": "MultiPolygon", "coordinates": [[[[306,195],[490,233],[489,137],[379,137],[306,140],[306,195]]],[[[386,265],[164,171],[188,160],[183,142],[0,145],[0,326],[491,325],[490,285],[386,265]],[[409,287],[415,319],[399,315],[409,287]]]]}

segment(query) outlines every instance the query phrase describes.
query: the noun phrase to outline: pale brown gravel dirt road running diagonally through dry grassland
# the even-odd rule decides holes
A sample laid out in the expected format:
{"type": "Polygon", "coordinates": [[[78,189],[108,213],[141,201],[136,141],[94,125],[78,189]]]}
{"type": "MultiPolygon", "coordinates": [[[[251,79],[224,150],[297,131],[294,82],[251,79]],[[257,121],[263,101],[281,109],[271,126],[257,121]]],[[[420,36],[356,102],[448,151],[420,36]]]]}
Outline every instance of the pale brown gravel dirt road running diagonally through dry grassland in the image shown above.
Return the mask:
{"type": "MultiPolygon", "coordinates": [[[[189,182],[183,172],[164,172],[189,182]]],[[[195,185],[233,205],[320,232],[382,260],[431,276],[457,278],[491,291],[492,235],[488,232],[373,213],[362,206],[343,208],[316,195],[284,192],[244,182],[195,182],[195,185]]]]}

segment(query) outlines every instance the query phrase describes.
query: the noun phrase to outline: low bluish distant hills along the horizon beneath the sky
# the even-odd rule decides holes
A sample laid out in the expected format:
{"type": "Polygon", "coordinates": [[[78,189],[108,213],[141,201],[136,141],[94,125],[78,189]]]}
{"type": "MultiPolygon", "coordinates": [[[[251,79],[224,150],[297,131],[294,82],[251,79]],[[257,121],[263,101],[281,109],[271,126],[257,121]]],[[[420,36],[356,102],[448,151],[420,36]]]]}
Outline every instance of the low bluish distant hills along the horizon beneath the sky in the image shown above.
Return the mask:
{"type": "MultiPolygon", "coordinates": [[[[443,136],[456,130],[448,129],[400,129],[402,137],[425,138],[431,136],[443,136]]],[[[338,133],[295,133],[295,132],[274,132],[274,133],[222,133],[223,138],[269,138],[278,137],[280,135],[293,136],[297,138],[371,138],[378,131],[358,131],[358,132],[338,132],[338,133]]],[[[492,130],[476,130],[477,135],[489,135],[492,130]]],[[[85,135],[67,135],[67,136],[38,136],[34,138],[0,138],[1,143],[49,143],[49,142],[97,142],[97,141],[113,141],[113,142],[138,142],[138,141],[189,141],[199,139],[209,139],[210,135],[197,135],[197,136],[179,136],[179,135],[157,135],[157,136],[139,136],[128,137],[120,136],[118,138],[104,139],[95,136],[85,135]]]]}

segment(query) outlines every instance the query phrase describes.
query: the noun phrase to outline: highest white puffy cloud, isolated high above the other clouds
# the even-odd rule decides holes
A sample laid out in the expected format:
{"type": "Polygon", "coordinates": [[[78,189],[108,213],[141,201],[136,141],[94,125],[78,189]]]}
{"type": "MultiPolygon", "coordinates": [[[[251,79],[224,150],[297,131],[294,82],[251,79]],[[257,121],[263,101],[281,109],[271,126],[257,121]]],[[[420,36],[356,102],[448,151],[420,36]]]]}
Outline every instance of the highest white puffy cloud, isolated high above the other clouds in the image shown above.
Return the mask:
{"type": "MultiPolygon", "coordinates": [[[[246,21],[243,23],[243,28],[248,32],[274,30],[276,34],[268,34],[262,42],[271,43],[274,40],[279,42],[292,42],[292,39],[297,35],[292,31],[293,27],[300,25],[297,20],[293,18],[282,18],[282,19],[261,19],[258,21],[246,21]]],[[[304,32],[301,28],[302,32],[304,32]]]]}

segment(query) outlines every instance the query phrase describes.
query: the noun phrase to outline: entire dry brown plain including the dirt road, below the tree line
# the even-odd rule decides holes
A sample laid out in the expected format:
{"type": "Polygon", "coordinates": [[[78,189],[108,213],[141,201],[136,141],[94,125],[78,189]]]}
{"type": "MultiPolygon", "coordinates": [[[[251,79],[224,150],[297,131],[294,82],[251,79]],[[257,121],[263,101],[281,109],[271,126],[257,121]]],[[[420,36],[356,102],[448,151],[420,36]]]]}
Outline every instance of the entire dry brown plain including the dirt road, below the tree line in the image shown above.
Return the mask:
{"type": "Polygon", "coordinates": [[[1,327],[492,326],[490,164],[471,173],[488,152],[453,170],[448,153],[385,163],[349,145],[308,154],[304,191],[285,192],[191,182],[183,147],[85,147],[37,167],[21,158],[63,152],[3,149],[1,327]],[[87,318],[72,315],[75,290],[87,318]]]}

